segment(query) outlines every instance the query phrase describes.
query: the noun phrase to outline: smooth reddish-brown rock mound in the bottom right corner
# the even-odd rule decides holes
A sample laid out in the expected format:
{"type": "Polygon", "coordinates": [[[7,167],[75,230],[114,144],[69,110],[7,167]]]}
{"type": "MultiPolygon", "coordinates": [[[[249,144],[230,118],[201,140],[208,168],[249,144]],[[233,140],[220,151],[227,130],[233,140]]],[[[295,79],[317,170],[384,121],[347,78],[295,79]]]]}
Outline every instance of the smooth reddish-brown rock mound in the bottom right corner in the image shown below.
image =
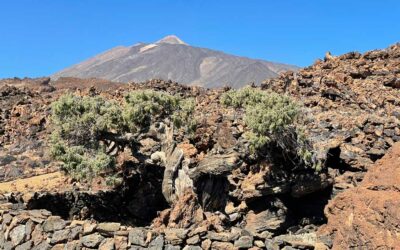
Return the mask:
{"type": "Polygon", "coordinates": [[[368,170],[356,188],[325,208],[318,233],[333,249],[396,249],[400,245],[400,143],[368,170]]]}

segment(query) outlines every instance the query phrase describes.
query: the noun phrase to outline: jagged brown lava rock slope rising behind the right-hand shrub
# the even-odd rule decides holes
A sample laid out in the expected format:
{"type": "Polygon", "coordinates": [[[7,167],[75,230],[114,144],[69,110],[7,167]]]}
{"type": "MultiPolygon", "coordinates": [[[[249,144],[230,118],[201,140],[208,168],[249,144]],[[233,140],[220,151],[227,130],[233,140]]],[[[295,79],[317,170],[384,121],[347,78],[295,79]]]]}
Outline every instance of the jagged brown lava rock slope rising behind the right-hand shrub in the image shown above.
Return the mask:
{"type": "Polygon", "coordinates": [[[335,188],[353,187],[400,141],[400,44],[385,50],[329,56],[297,73],[267,80],[263,89],[286,93],[312,115],[310,138],[336,173],[335,188]],[[332,157],[329,157],[332,156],[332,157]],[[343,174],[344,173],[344,174],[343,174]],[[360,174],[361,173],[361,174],[360,174]]]}

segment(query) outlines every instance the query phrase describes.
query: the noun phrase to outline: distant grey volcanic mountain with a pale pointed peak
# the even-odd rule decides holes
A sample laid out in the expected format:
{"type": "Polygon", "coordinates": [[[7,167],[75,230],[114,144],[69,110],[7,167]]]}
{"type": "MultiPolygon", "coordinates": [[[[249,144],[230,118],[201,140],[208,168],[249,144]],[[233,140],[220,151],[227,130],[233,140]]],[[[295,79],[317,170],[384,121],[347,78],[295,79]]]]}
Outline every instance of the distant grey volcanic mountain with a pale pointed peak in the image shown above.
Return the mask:
{"type": "Polygon", "coordinates": [[[238,88],[297,69],[292,65],[190,46],[177,36],[169,35],[154,43],[115,47],[57,72],[52,78],[96,77],[118,82],[161,78],[210,88],[238,88]]]}

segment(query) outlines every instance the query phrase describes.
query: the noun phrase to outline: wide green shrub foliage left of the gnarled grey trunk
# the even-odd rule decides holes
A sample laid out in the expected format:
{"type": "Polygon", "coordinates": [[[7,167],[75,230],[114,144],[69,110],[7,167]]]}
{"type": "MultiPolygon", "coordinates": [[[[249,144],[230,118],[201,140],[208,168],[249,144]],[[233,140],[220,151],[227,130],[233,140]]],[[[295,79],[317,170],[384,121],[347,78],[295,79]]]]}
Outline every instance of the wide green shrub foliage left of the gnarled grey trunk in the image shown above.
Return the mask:
{"type": "Polygon", "coordinates": [[[115,155],[107,153],[108,145],[136,150],[136,136],[153,122],[188,128],[193,111],[193,100],[151,90],[130,92],[122,103],[68,93],[52,104],[51,155],[78,180],[104,176],[108,183],[118,183],[115,155]]]}

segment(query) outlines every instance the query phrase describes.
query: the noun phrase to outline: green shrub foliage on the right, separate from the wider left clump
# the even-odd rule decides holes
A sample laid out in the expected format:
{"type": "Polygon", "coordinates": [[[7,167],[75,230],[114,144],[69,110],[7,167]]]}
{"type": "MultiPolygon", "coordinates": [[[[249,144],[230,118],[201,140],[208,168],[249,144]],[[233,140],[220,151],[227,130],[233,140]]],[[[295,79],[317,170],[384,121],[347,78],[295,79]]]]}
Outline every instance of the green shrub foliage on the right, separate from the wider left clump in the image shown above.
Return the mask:
{"type": "Polygon", "coordinates": [[[225,106],[244,109],[244,121],[249,131],[245,134],[253,153],[280,148],[282,155],[291,155],[307,166],[320,170],[312,146],[302,130],[302,113],[298,103],[285,95],[261,91],[252,87],[230,90],[221,97],[225,106]]]}

